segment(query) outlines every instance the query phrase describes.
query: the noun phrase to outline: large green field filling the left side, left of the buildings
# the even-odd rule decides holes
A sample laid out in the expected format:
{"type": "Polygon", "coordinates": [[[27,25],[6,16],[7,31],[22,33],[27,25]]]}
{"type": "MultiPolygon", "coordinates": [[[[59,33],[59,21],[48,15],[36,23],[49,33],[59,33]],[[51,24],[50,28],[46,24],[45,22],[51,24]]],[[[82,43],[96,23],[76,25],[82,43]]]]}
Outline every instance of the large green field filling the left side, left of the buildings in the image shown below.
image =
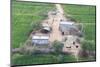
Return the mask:
{"type": "Polygon", "coordinates": [[[24,44],[32,30],[39,29],[41,20],[46,18],[52,4],[12,1],[12,47],[24,44]]]}

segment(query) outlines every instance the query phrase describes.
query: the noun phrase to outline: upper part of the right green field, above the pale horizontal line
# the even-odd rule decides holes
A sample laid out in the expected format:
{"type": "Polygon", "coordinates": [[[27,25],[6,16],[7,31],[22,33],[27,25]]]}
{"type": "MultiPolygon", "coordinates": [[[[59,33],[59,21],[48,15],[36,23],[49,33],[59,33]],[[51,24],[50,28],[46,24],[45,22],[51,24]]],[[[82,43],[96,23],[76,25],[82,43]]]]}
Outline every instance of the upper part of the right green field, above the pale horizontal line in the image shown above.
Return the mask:
{"type": "Polygon", "coordinates": [[[95,6],[83,5],[63,5],[65,15],[71,17],[81,23],[94,23],[95,22],[95,6]]]}

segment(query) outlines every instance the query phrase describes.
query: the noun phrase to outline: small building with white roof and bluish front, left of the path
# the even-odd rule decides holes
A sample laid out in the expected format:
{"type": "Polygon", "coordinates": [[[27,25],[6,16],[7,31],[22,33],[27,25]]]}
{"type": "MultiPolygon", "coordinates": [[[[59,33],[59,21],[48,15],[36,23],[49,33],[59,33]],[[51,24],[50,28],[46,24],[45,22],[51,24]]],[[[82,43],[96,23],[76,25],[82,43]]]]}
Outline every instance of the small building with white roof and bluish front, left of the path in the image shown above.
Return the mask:
{"type": "Polygon", "coordinates": [[[49,36],[47,36],[47,35],[33,35],[32,36],[32,44],[48,45],[49,44],[49,36]]]}

